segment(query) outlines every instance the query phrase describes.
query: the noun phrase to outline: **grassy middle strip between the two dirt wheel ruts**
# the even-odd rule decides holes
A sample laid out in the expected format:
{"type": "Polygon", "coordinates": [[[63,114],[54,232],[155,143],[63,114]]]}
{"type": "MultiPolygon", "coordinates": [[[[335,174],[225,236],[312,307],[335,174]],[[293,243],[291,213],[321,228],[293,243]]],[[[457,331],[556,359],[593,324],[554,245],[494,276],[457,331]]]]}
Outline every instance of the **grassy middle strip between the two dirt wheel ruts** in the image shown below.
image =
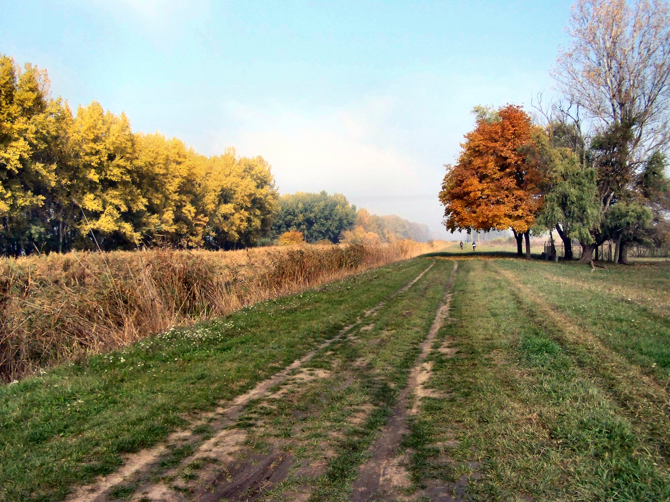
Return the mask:
{"type": "Polygon", "coordinates": [[[249,407],[241,417],[244,424],[253,424],[249,440],[289,438],[284,450],[297,463],[326,463],[316,479],[291,476],[265,497],[283,500],[296,487],[309,484],[310,501],[348,498],[358,466],[368,458],[399,390],[407,384],[450,268],[440,260],[415,286],[366,321],[374,323],[372,329],[356,331],[355,338],[335,343],[310,361],[309,367],[328,370],[328,377],[249,407]],[[348,385],[342,387],[344,382],[348,385]],[[352,423],[356,414],[361,420],[352,423]],[[324,458],[322,444],[328,444],[334,455],[324,458]]]}

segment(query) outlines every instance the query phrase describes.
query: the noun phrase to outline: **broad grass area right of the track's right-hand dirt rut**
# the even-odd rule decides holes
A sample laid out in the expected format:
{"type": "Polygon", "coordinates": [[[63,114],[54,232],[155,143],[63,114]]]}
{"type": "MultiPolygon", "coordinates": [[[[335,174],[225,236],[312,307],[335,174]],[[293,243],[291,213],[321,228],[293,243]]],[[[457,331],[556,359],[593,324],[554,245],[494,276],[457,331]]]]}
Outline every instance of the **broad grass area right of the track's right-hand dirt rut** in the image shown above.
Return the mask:
{"type": "Polygon", "coordinates": [[[551,264],[548,275],[543,262],[460,264],[458,321],[439,333],[459,351],[432,355],[430,384],[448,397],[424,400],[407,438],[415,485],[456,481],[477,461],[468,491],[478,499],[668,499],[667,394],[641,380],[665,376],[655,372],[670,352],[665,320],[627,300],[557,287],[556,276],[582,273],[570,264],[551,264]],[[606,334],[613,327],[618,338],[606,334]],[[656,367],[641,365],[652,359],[656,367]],[[435,444],[452,438],[458,446],[445,461],[435,444]]]}

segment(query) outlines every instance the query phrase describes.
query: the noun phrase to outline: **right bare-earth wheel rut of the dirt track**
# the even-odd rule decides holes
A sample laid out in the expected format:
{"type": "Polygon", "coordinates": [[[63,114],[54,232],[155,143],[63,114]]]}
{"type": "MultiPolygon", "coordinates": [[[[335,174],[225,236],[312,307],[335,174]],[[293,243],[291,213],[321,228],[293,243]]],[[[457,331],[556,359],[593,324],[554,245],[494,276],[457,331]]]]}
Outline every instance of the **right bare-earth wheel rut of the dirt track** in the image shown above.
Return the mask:
{"type": "Polygon", "coordinates": [[[399,399],[391,416],[387,420],[381,434],[373,444],[372,456],[358,470],[359,477],[352,487],[351,500],[353,502],[364,502],[373,499],[379,500],[385,497],[401,495],[402,489],[409,486],[409,476],[407,474],[407,457],[398,455],[403,436],[407,434],[407,425],[405,418],[407,415],[407,397],[409,392],[415,392],[419,386],[419,374],[423,361],[427,357],[430,347],[435,340],[438,330],[442,327],[444,319],[449,315],[450,290],[454,276],[456,274],[457,264],[454,262],[454,268],[446,292],[438,307],[433,324],[430,327],[427,337],[421,342],[421,353],[417,357],[415,365],[409,375],[407,386],[401,390],[399,399]]]}

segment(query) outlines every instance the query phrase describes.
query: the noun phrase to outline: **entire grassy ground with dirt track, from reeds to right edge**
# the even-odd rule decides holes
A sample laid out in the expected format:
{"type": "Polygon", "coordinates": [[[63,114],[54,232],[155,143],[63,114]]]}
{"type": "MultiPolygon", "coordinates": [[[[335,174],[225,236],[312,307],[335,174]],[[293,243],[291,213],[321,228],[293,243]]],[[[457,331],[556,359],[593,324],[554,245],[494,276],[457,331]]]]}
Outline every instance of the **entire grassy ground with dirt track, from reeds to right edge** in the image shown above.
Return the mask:
{"type": "Polygon", "coordinates": [[[0,499],[669,499],[670,265],[462,258],[3,386],[0,499]]]}

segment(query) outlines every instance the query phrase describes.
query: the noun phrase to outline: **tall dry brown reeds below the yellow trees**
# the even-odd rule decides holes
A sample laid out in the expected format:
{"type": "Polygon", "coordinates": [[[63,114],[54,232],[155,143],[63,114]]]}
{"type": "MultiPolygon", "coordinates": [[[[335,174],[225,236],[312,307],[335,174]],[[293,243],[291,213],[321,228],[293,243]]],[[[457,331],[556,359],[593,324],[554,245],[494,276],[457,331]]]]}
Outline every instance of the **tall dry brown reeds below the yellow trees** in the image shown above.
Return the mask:
{"type": "Polygon", "coordinates": [[[0,261],[0,379],[225,315],[434,250],[302,246],[213,252],[70,252],[0,261]]]}

